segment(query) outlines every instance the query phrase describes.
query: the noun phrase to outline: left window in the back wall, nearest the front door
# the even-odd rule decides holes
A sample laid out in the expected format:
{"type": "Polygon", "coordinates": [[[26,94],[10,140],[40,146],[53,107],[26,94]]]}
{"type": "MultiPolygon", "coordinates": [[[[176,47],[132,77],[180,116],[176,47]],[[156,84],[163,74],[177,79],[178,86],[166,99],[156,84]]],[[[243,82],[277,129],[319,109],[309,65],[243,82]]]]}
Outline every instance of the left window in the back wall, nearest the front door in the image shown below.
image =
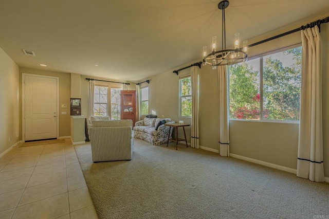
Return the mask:
{"type": "Polygon", "coordinates": [[[94,116],[107,116],[108,88],[96,86],[94,89],[94,116]]]}

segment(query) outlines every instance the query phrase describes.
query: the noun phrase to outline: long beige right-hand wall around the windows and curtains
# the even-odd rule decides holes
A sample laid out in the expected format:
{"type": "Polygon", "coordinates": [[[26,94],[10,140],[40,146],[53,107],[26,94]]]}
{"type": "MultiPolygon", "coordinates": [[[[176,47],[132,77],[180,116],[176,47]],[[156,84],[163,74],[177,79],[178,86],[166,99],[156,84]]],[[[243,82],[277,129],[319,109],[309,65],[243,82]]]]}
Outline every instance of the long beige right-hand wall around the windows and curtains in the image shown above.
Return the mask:
{"type": "MultiPolygon", "coordinates": [[[[326,17],[328,14],[316,19],[284,27],[276,32],[264,34],[250,43],[258,42],[269,36],[295,29],[308,22],[326,17]]],[[[323,66],[322,66],[322,99],[323,99],[323,154],[324,172],[329,177],[329,24],[321,25],[321,36],[323,41],[323,66]]],[[[270,41],[249,49],[249,56],[278,49],[284,46],[294,45],[301,42],[300,32],[290,34],[278,40],[270,41]]],[[[202,48],[200,48],[202,49],[202,48]]],[[[199,61],[199,60],[196,60],[199,61]]],[[[191,63],[177,66],[175,69],[185,67],[191,63]]],[[[174,69],[172,69],[174,70],[174,69]]],[[[179,76],[172,70],[163,72],[150,79],[149,105],[150,112],[156,111],[158,117],[170,117],[175,121],[190,119],[178,117],[178,80],[179,76],[189,74],[190,69],[179,72],[179,76]]],[[[218,85],[217,72],[210,66],[202,66],[199,71],[199,142],[200,146],[207,147],[212,151],[218,150],[218,85]]],[[[253,158],[279,166],[297,169],[299,124],[271,123],[230,120],[230,152],[232,154],[253,158]]],[[[179,137],[182,133],[179,133],[179,137]]],[[[191,129],[188,129],[188,142],[190,142],[191,129]]]]}

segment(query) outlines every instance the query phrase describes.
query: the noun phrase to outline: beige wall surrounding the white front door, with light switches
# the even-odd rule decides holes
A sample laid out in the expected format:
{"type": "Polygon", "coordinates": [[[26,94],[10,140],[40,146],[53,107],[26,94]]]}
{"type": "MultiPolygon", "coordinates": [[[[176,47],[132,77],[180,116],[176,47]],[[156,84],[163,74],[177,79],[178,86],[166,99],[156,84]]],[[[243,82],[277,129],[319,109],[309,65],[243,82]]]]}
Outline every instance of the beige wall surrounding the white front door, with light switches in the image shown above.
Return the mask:
{"type": "Polygon", "coordinates": [[[64,72],[47,71],[32,68],[20,67],[20,139],[22,139],[22,74],[34,74],[34,75],[45,75],[52,77],[59,77],[59,95],[60,95],[60,112],[59,115],[59,126],[60,126],[60,137],[70,136],[70,92],[71,92],[71,75],[64,72]],[[61,108],[62,104],[66,104],[67,108],[61,108]],[[61,115],[61,112],[66,111],[66,115],[61,115]]]}

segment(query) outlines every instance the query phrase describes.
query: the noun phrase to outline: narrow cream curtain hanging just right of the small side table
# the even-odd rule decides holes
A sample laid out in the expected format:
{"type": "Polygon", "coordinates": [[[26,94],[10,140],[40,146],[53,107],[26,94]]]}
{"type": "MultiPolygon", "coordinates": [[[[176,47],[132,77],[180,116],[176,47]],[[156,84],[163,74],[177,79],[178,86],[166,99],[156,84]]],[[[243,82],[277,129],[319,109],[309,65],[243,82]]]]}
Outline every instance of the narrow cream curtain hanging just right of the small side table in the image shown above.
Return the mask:
{"type": "Polygon", "coordinates": [[[199,67],[191,67],[191,87],[192,87],[192,133],[191,147],[199,148],[199,98],[198,98],[198,74],[199,67]]]}

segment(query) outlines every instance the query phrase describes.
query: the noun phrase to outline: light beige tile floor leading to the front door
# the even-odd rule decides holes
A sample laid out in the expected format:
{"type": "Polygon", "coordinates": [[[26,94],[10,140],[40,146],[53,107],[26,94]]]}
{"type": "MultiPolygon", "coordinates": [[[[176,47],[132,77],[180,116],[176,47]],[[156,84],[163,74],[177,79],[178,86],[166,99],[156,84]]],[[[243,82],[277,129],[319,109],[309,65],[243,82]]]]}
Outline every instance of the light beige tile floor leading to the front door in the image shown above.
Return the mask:
{"type": "Polygon", "coordinates": [[[98,218],[70,139],[0,158],[0,218],[98,218]]]}

